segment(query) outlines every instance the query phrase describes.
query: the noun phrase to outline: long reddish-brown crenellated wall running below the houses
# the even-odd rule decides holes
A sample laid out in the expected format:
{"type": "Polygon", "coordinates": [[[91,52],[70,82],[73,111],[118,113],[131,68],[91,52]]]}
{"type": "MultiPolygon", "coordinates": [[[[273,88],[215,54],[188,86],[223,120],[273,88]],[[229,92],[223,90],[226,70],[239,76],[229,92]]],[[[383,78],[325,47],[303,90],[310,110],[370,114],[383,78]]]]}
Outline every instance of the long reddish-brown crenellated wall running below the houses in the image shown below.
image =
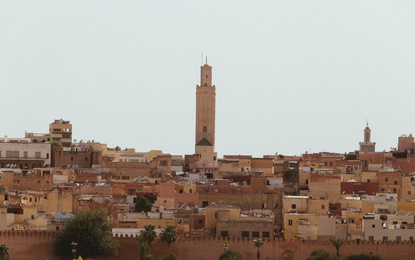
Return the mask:
{"type": "MultiPolygon", "coordinates": [[[[44,231],[3,231],[0,232],[0,242],[6,243],[10,247],[12,259],[16,260],[45,260],[59,258],[53,255],[54,232],[44,231]]],[[[112,259],[139,259],[139,249],[132,237],[118,238],[121,249],[119,255],[111,258],[100,257],[100,260],[112,259]]],[[[256,259],[256,248],[252,240],[244,239],[215,239],[215,238],[182,238],[171,246],[171,252],[176,254],[181,260],[216,260],[223,252],[222,244],[229,244],[229,248],[245,254],[248,260],[256,259]]],[[[335,253],[334,246],[330,241],[273,241],[266,240],[264,247],[261,248],[262,260],[292,259],[305,260],[313,250],[324,249],[330,253],[335,253]]],[[[346,242],[340,249],[342,256],[350,253],[379,251],[385,260],[410,260],[415,254],[415,247],[412,243],[385,243],[376,244],[365,241],[356,244],[346,242]]],[[[167,245],[158,241],[151,248],[154,259],[159,260],[167,254],[167,245]]],[[[82,256],[84,259],[88,256],[82,256]]],[[[62,260],[69,258],[62,258],[62,260]]]]}

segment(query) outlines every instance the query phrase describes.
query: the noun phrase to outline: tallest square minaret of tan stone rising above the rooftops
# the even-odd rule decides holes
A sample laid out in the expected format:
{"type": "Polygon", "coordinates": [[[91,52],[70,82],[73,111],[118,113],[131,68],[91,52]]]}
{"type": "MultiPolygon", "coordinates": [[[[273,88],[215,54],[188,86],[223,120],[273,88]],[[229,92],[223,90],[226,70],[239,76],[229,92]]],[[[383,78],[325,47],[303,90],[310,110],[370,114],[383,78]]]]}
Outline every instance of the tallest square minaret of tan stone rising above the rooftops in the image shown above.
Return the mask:
{"type": "Polygon", "coordinates": [[[212,85],[212,67],[200,68],[200,86],[196,86],[196,140],[195,153],[204,161],[216,161],[215,106],[216,87],[212,85]]]}

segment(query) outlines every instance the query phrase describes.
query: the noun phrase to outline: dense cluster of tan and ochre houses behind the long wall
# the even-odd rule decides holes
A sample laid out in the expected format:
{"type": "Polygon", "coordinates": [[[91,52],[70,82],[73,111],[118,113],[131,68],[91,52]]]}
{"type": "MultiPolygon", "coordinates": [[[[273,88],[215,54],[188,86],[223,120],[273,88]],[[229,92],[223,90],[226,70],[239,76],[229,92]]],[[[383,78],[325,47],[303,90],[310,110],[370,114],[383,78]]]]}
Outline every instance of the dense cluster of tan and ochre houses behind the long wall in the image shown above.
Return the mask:
{"type": "Polygon", "coordinates": [[[91,209],[108,213],[114,235],[152,224],[192,237],[412,241],[414,137],[375,152],[368,129],[347,154],[204,160],[78,142],[55,120],[49,133],[0,138],[0,230],[58,231],[91,209]],[[150,212],[135,212],[138,196],[150,212]]]}

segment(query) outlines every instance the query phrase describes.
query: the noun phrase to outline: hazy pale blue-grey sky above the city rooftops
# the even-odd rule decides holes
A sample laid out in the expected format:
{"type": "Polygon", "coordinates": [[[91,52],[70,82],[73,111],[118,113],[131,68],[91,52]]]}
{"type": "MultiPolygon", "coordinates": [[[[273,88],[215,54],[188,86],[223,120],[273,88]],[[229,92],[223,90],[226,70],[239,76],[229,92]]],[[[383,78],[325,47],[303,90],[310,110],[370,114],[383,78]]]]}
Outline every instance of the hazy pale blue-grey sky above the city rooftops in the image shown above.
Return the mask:
{"type": "Polygon", "coordinates": [[[0,136],[194,153],[201,52],[216,150],[376,150],[415,133],[415,1],[0,0],[0,136]]]}

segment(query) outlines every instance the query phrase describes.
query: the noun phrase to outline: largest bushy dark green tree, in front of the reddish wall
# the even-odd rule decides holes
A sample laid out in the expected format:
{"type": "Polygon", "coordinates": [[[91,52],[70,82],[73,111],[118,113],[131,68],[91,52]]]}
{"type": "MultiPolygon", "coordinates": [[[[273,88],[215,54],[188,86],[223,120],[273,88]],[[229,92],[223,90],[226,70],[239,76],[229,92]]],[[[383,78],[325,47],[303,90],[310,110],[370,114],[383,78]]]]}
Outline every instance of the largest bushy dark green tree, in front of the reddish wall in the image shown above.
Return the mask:
{"type": "Polygon", "coordinates": [[[83,257],[115,256],[119,248],[108,216],[102,210],[76,211],[56,236],[55,255],[71,256],[71,242],[77,243],[77,254],[83,257]]]}

